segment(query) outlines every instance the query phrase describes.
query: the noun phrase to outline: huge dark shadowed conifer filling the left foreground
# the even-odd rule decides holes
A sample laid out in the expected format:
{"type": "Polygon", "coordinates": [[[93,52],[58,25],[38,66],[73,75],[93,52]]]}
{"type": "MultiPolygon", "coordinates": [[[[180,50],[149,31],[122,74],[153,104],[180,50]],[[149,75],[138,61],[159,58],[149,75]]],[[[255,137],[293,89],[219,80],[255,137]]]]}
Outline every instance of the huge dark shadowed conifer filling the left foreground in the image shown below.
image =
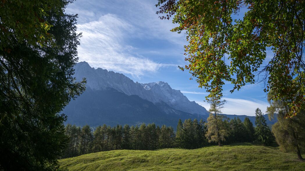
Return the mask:
{"type": "Polygon", "coordinates": [[[1,1],[0,170],[58,169],[64,114],[84,91],[75,82],[80,34],[71,1],[1,1]]]}

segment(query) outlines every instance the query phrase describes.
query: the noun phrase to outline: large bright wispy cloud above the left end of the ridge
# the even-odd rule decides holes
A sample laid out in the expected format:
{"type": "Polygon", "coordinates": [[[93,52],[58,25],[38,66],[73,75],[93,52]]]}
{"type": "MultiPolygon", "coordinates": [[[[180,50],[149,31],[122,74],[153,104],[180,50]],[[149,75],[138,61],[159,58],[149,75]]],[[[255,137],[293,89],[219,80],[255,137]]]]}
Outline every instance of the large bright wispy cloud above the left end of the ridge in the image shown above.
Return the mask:
{"type": "Polygon", "coordinates": [[[146,72],[156,72],[160,67],[177,66],[160,64],[148,58],[132,54],[134,47],[125,44],[124,38],[133,33],[133,26],[115,15],[107,14],[98,21],[78,24],[82,32],[78,47],[80,61],[92,67],[123,72],[139,77],[146,72]]]}

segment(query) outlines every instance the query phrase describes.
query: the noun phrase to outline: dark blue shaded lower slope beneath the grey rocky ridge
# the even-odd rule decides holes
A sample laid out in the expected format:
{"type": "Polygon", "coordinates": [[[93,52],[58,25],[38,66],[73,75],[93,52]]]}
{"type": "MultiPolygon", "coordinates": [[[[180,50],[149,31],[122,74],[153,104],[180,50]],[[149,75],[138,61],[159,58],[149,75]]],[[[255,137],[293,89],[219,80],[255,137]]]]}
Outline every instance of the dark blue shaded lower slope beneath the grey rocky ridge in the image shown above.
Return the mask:
{"type": "MultiPolygon", "coordinates": [[[[139,96],[128,96],[115,89],[87,90],[70,102],[63,110],[68,116],[67,123],[90,125],[96,127],[102,124],[116,126],[117,124],[139,125],[142,123],[166,124],[176,128],[179,118],[203,118],[180,110],[175,110],[166,103],[152,103],[139,96]]],[[[205,119],[205,118],[203,118],[205,119]]]]}

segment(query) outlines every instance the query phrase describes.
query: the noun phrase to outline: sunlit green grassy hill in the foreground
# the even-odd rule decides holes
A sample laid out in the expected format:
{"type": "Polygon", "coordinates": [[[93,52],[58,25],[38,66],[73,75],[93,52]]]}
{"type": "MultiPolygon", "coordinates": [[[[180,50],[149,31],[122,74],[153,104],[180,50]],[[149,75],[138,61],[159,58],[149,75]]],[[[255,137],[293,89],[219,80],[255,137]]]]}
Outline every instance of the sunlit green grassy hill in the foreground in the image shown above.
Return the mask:
{"type": "Polygon", "coordinates": [[[59,160],[69,170],[304,170],[296,154],[252,144],[194,150],[114,150],[59,160]]]}

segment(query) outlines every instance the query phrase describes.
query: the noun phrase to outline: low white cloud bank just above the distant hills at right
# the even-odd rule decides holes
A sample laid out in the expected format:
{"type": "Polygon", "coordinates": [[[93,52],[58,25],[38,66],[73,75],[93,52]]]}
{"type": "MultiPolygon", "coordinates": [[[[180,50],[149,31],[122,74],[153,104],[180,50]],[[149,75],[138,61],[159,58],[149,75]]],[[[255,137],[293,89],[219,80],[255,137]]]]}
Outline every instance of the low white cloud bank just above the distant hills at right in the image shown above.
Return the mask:
{"type": "MultiPolygon", "coordinates": [[[[222,113],[225,114],[254,116],[256,108],[260,108],[264,112],[268,106],[267,102],[257,99],[245,100],[226,97],[224,97],[223,99],[227,101],[222,111],[222,113]]],[[[207,102],[196,101],[196,103],[206,108],[206,110],[210,109],[210,104],[208,104],[207,102]]]]}

